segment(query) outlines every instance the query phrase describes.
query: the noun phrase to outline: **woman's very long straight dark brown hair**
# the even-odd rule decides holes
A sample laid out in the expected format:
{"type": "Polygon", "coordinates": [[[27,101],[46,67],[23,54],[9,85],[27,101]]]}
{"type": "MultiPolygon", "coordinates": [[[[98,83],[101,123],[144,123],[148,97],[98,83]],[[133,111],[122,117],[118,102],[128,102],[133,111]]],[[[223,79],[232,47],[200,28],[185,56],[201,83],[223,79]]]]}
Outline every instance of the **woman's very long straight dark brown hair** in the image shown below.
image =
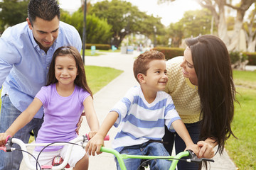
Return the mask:
{"type": "Polygon", "coordinates": [[[201,132],[199,140],[212,137],[223,153],[225,140],[233,134],[230,124],[234,115],[235,86],[227,47],[214,35],[189,38],[198,77],[198,94],[201,99],[201,132]]]}

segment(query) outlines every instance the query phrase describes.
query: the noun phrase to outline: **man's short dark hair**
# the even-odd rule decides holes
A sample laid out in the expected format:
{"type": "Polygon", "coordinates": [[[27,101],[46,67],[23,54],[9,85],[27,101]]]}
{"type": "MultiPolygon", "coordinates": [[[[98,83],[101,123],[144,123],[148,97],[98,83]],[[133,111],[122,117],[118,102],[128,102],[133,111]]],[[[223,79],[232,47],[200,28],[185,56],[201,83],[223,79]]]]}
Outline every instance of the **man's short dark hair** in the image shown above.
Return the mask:
{"type": "Polygon", "coordinates": [[[33,26],[36,17],[52,21],[55,16],[60,19],[60,6],[56,0],[31,0],[28,3],[28,19],[33,26]]]}

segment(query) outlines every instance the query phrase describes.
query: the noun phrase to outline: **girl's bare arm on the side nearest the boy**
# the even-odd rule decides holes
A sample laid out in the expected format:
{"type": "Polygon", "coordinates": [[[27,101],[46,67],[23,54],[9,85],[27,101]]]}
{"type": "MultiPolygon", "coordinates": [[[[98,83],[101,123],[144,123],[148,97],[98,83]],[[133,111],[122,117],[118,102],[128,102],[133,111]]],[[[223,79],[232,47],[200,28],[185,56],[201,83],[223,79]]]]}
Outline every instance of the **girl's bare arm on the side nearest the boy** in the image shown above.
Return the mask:
{"type": "Polygon", "coordinates": [[[92,96],[88,96],[87,98],[85,98],[83,105],[85,108],[85,117],[91,131],[89,133],[89,137],[92,138],[96,134],[97,130],[99,130],[100,128],[99,120],[97,119],[95,108],[93,106],[92,96]]]}

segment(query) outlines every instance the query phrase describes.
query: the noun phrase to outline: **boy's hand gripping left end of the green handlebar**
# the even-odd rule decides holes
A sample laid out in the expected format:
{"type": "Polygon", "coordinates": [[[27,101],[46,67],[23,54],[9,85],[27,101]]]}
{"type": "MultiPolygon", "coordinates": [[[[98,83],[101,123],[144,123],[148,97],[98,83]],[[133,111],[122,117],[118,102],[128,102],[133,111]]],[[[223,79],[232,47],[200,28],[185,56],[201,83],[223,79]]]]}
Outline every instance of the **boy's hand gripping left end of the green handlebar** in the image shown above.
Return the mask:
{"type": "Polygon", "coordinates": [[[104,146],[104,137],[97,133],[92,137],[91,140],[89,140],[85,147],[85,151],[87,152],[87,154],[95,156],[95,152],[96,154],[102,153],[100,152],[102,146],[104,146]]]}

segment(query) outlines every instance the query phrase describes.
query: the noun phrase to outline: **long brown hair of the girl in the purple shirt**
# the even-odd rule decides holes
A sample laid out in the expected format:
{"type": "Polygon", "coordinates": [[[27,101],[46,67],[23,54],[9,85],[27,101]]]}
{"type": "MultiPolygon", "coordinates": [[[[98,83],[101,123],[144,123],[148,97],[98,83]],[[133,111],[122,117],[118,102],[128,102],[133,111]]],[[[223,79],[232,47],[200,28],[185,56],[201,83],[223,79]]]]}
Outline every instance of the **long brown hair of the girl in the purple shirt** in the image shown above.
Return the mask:
{"type": "Polygon", "coordinates": [[[85,89],[86,91],[88,91],[88,93],[92,96],[92,91],[90,90],[87,84],[87,80],[85,76],[85,67],[82,62],[82,57],[78,52],[78,50],[75,47],[71,47],[71,46],[59,47],[57,50],[55,50],[53,54],[53,59],[50,62],[50,68],[48,72],[48,81],[46,86],[50,84],[55,84],[58,82],[58,80],[55,77],[55,60],[56,60],[56,57],[63,56],[63,55],[71,56],[75,60],[76,67],[78,68],[78,75],[74,81],[75,85],[82,87],[82,89],[85,89]]]}

